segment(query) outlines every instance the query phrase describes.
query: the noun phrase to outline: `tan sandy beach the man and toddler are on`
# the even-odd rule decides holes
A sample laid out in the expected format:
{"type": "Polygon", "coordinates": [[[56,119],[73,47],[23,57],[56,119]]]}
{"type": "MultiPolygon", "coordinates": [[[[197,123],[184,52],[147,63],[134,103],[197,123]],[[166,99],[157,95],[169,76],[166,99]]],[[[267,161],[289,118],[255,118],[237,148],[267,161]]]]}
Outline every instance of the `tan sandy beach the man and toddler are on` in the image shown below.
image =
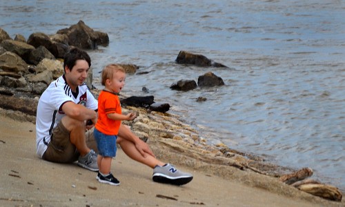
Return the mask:
{"type": "MultiPolygon", "coordinates": [[[[186,186],[157,184],[152,181],[152,169],[132,161],[121,149],[112,161],[112,172],[121,185],[100,184],[95,172],[77,164],[39,159],[34,124],[3,114],[0,120],[0,206],[344,206],[344,201],[327,201],[284,184],[280,192],[255,188],[244,184],[252,177],[244,172],[240,172],[242,181],[236,181],[217,176],[212,168],[193,169],[179,163],[173,164],[192,172],[193,181],[186,186]]],[[[163,161],[173,157],[167,150],[164,154],[159,155],[163,161]]]]}

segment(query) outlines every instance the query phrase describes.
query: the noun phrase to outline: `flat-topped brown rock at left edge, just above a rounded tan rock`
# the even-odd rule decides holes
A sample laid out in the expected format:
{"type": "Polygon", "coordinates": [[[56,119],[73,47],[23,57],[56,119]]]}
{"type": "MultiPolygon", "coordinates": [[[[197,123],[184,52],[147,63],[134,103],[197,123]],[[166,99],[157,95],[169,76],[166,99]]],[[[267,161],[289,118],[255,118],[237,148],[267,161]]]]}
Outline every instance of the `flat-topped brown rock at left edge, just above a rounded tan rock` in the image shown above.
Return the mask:
{"type": "Polygon", "coordinates": [[[15,41],[12,39],[6,39],[0,43],[0,45],[7,51],[13,52],[24,61],[28,62],[30,53],[34,50],[34,46],[29,45],[21,41],[15,41]]]}

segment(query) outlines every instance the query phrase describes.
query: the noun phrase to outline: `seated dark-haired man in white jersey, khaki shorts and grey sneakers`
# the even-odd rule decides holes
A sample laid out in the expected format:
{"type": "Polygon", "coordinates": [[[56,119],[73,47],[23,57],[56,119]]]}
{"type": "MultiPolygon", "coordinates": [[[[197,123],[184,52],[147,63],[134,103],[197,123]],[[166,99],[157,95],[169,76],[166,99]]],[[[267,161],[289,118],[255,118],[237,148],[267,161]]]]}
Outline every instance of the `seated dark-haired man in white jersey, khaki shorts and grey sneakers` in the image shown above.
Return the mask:
{"type": "MultiPolygon", "coordinates": [[[[72,163],[97,172],[95,138],[90,133],[97,122],[98,103],[84,81],[91,66],[83,50],[73,48],[63,59],[64,74],[52,81],[37,106],[37,154],[46,161],[72,163]]],[[[117,144],[128,157],[153,168],[153,181],[184,185],[193,175],[155,158],[148,145],[120,125],[117,144]]]]}

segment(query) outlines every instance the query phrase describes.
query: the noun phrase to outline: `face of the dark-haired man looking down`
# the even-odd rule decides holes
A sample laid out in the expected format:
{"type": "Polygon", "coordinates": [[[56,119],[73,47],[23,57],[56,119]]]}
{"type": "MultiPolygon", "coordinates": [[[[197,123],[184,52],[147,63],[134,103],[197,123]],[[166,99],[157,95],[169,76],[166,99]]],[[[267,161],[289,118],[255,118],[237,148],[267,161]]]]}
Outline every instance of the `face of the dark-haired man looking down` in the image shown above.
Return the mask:
{"type": "Polygon", "coordinates": [[[68,83],[68,86],[72,88],[72,90],[75,90],[77,86],[80,86],[83,84],[83,82],[86,80],[86,77],[88,77],[88,62],[79,59],[75,62],[75,66],[73,66],[72,70],[70,70],[68,67],[66,67],[66,81],[68,83]]]}

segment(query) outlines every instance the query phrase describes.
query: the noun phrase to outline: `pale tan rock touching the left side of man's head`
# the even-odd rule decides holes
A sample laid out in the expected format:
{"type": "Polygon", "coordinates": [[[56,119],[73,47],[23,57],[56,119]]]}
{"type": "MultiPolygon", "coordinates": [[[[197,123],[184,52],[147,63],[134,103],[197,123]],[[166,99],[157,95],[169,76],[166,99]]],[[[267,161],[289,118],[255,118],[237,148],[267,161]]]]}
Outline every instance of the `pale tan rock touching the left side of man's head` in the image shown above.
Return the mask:
{"type": "Polygon", "coordinates": [[[52,72],[52,79],[57,79],[63,74],[63,63],[57,59],[43,59],[36,67],[36,72],[49,70],[52,72]]]}

